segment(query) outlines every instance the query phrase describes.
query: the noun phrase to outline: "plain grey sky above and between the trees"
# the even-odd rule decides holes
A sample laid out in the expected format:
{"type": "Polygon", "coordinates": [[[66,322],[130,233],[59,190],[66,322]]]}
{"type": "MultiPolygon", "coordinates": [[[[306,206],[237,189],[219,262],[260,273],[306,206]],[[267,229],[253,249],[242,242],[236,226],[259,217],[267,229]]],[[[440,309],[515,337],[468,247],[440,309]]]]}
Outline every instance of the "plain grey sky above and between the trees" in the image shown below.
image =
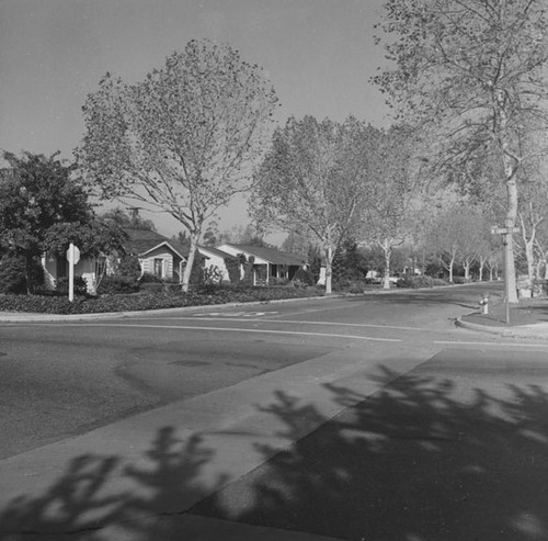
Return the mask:
{"type": "MultiPolygon", "coordinates": [[[[83,136],[81,106],[106,71],[142,80],[191,40],[228,43],[261,65],[281,102],[276,121],[350,114],[388,123],[370,83],[383,0],[0,0],[0,150],[70,159],[83,136]]],[[[113,206],[122,206],[112,204],[113,206]]],[[[182,226],[151,217],[171,236],[182,226]]],[[[219,229],[246,225],[237,201],[219,229]]]]}

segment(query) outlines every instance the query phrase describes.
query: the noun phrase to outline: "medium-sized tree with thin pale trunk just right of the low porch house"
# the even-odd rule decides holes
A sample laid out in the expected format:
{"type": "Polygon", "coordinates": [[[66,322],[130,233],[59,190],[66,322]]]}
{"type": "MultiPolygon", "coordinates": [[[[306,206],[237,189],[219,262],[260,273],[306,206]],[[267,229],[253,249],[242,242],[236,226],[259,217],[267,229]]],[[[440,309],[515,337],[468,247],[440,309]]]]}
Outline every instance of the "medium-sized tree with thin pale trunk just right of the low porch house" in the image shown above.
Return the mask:
{"type": "Polygon", "coordinates": [[[256,173],[251,206],[259,224],[316,238],[326,257],[326,291],[340,244],[359,221],[376,129],[350,117],[344,123],[290,117],[276,129],[256,173]]]}

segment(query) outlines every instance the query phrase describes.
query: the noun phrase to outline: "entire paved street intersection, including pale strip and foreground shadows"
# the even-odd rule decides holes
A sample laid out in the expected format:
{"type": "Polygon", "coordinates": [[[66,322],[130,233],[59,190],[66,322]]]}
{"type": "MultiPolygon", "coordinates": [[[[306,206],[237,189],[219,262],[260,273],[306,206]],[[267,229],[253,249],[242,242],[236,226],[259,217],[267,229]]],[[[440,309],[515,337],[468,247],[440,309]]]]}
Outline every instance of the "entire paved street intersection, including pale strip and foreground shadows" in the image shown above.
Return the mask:
{"type": "Polygon", "coordinates": [[[4,454],[0,539],[546,539],[548,342],[456,328],[476,296],[1,326],[4,385],[85,429],[4,454]]]}

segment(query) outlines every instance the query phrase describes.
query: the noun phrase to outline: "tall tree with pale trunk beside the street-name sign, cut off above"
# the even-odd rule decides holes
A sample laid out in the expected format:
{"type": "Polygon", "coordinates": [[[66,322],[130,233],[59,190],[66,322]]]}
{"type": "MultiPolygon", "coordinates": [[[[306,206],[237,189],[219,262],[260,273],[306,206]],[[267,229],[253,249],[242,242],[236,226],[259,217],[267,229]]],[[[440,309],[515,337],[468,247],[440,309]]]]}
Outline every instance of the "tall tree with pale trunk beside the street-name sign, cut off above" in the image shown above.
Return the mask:
{"type": "MultiPolygon", "coordinates": [[[[517,218],[523,140],[548,125],[547,10],[537,0],[387,0],[384,31],[395,67],[375,80],[407,122],[432,134],[436,170],[470,182],[498,160],[505,226],[517,218]]],[[[517,302],[512,235],[506,291],[517,302]]]]}

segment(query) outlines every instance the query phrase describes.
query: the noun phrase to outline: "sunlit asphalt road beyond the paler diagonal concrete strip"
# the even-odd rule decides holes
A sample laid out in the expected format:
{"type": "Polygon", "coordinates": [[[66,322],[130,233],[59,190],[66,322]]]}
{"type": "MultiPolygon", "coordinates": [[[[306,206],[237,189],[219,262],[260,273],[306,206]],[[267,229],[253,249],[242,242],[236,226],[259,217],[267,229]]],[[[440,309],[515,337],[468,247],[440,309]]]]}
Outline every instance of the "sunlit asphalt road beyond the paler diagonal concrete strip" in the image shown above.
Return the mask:
{"type": "Polygon", "coordinates": [[[434,342],[468,336],[454,318],[475,307],[479,291],[2,325],[0,459],[336,349],[433,353],[443,347],[434,342]]]}

